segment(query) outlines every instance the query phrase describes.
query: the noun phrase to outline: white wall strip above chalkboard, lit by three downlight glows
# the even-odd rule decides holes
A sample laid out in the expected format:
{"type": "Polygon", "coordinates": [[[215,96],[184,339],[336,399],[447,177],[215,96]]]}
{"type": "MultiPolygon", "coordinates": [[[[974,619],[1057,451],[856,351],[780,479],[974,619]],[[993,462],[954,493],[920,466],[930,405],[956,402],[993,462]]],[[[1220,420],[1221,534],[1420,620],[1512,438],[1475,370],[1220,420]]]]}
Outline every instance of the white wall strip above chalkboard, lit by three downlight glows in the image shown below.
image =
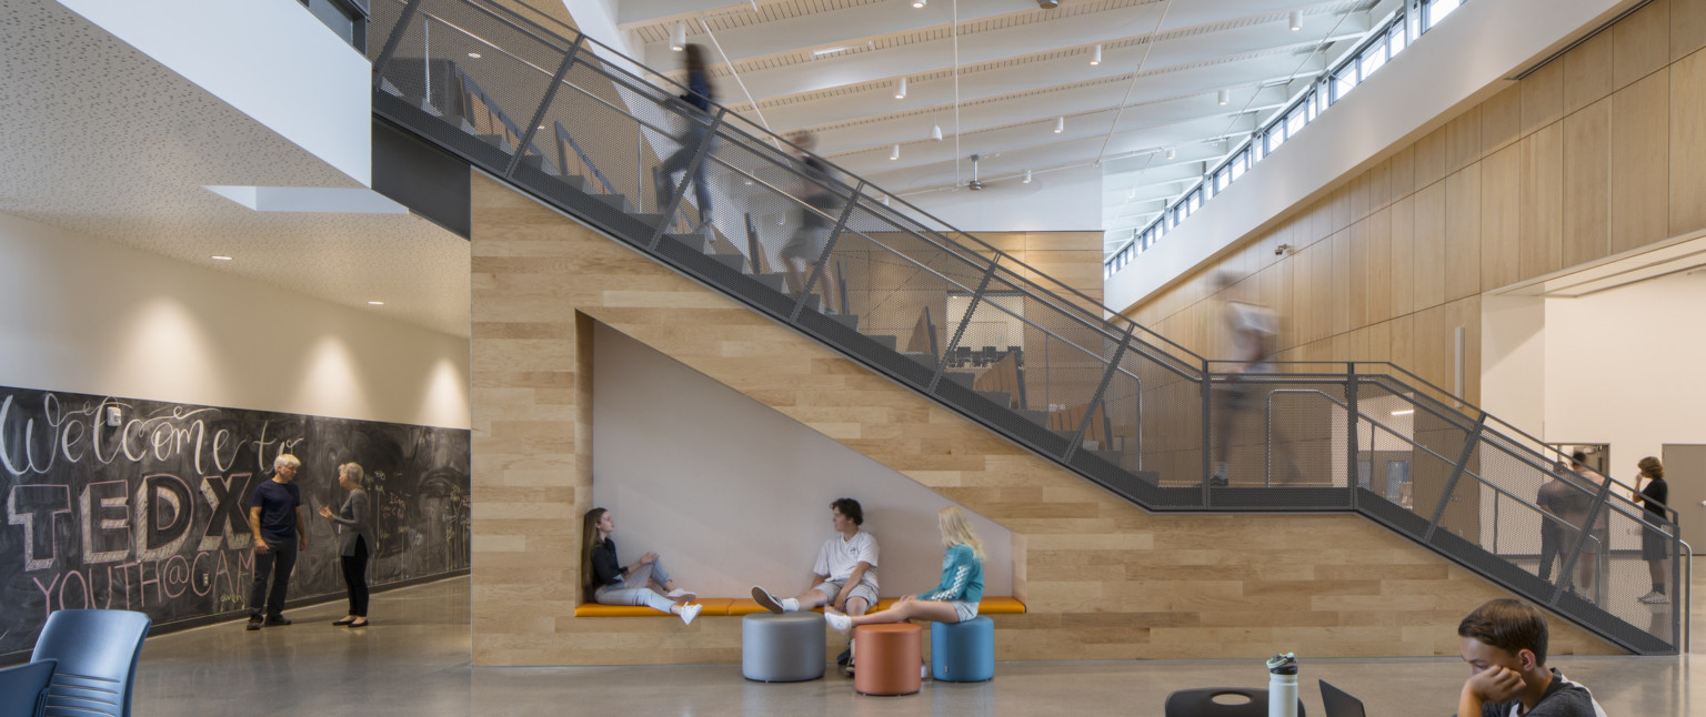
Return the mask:
{"type": "Polygon", "coordinates": [[[9,215],[0,385],[469,427],[466,339],[9,215]]]}

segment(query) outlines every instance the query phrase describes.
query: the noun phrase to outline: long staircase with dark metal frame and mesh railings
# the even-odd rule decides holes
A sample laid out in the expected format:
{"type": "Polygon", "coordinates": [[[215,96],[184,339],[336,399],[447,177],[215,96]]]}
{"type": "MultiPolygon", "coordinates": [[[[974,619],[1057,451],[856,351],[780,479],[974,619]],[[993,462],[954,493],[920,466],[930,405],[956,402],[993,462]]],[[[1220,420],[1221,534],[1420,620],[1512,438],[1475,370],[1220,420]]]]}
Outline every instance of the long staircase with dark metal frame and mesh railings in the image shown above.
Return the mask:
{"type": "Polygon", "coordinates": [[[1641,533],[1674,543],[1680,582],[1675,513],[1646,518],[1626,487],[1568,472],[1587,513],[1539,509],[1558,456],[1397,366],[1218,373],[515,7],[375,0],[375,116],[1145,509],[1355,511],[1631,652],[1682,649],[1682,601],[1636,601],[1641,533]],[[684,145],[691,124],[713,140],[684,145]],[[676,152],[706,165],[711,223],[696,221],[694,170],[662,177],[676,152]],[[814,213],[821,254],[790,278],[778,250],[814,213]],[[1210,480],[1220,462],[1227,480],[1210,480]],[[1556,571],[1539,565],[1541,525],[1561,535],[1556,571]]]}

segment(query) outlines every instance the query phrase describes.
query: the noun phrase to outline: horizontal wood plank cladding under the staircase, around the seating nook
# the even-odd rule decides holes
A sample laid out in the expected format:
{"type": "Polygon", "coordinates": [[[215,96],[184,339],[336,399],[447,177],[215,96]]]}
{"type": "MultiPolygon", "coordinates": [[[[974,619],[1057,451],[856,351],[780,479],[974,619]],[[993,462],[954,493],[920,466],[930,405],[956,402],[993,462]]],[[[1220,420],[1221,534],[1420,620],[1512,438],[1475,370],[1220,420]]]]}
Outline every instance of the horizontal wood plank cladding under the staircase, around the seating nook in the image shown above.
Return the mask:
{"type": "MultiPolygon", "coordinates": [[[[1455,656],[1462,615],[1503,596],[1358,516],[1145,514],[483,175],[473,186],[474,664],[740,659],[737,618],[573,617],[594,322],[1012,530],[1029,613],[995,618],[996,659],[1455,656]]],[[[1616,652],[1561,622],[1552,644],[1616,652]]]]}

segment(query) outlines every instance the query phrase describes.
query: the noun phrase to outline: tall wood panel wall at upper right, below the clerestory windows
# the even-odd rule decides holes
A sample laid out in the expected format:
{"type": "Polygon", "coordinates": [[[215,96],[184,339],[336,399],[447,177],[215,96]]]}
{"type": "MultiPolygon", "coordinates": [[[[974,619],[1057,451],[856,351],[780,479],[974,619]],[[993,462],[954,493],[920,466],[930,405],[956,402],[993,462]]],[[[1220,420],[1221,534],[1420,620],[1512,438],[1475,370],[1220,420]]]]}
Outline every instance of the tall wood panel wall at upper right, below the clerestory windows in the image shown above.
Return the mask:
{"type": "Polygon", "coordinates": [[[1443,388],[1464,327],[1477,404],[1483,293],[1706,228],[1703,48],[1706,0],[1655,0],[1123,313],[1223,356],[1218,301],[1261,301],[1280,359],[1443,388]],[[1216,296],[1221,271],[1244,281],[1216,296]]]}

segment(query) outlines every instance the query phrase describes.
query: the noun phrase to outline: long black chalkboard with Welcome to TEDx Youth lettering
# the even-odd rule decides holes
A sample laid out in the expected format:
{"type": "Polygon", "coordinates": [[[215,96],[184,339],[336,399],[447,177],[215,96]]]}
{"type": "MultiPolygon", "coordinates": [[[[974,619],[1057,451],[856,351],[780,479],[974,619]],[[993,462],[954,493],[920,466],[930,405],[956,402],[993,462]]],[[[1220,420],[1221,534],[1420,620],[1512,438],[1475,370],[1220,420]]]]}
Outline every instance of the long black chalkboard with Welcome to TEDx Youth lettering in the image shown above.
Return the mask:
{"type": "Polygon", "coordinates": [[[302,460],[309,548],[290,599],[345,594],[333,525],[360,463],[379,545],[368,584],[469,565],[469,433],[0,387],[0,656],[48,613],[114,608],[157,627],[247,611],[249,496],[302,460]]]}

